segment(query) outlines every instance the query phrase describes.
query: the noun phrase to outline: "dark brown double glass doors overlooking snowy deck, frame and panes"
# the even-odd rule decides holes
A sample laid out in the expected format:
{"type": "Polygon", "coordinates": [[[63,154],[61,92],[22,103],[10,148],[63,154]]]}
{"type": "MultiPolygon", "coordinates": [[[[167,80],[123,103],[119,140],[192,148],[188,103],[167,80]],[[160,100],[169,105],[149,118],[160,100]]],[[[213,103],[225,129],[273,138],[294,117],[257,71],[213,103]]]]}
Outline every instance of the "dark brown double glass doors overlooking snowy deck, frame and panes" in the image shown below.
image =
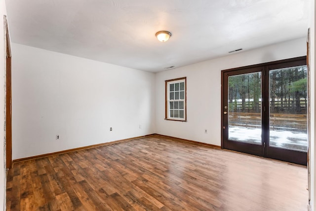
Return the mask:
{"type": "Polygon", "coordinates": [[[306,57],[222,71],[222,147],[307,164],[306,57]]]}

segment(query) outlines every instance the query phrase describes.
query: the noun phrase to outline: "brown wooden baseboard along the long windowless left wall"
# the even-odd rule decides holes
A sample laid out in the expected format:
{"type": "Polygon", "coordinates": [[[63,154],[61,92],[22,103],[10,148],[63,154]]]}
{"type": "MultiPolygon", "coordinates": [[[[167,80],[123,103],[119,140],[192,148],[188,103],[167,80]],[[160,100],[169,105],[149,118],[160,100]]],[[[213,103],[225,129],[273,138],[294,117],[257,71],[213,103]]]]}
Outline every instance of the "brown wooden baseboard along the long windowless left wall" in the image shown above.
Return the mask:
{"type": "Polygon", "coordinates": [[[89,145],[89,146],[82,146],[82,147],[78,147],[78,148],[62,150],[62,151],[58,151],[58,152],[51,152],[51,153],[42,154],[42,155],[35,155],[35,156],[31,156],[31,157],[26,157],[26,158],[19,158],[19,159],[13,160],[13,163],[26,161],[26,160],[34,160],[34,159],[37,159],[37,158],[47,157],[47,156],[51,156],[51,155],[64,154],[64,153],[67,153],[67,152],[74,152],[74,151],[79,151],[79,150],[84,150],[84,149],[91,149],[91,148],[95,148],[95,147],[99,147],[99,146],[106,146],[106,145],[110,145],[110,144],[114,144],[114,143],[120,143],[120,142],[124,142],[124,141],[131,141],[131,140],[140,139],[140,138],[153,136],[153,135],[156,135],[156,134],[149,134],[149,135],[138,136],[138,137],[133,137],[133,138],[129,138],[129,139],[110,141],[110,142],[106,142],[106,143],[98,143],[98,144],[93,144],[93,145],[89,145]]]}

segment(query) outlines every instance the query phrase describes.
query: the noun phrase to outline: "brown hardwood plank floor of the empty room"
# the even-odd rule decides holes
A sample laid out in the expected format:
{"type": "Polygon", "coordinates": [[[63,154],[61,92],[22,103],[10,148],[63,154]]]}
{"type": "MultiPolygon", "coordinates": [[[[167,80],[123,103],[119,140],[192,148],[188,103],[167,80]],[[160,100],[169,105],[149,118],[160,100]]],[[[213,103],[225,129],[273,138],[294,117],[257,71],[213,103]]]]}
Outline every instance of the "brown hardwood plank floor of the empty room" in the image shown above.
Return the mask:
{"type": "Polygon", "coordinates": [[[7,211],[306,211],[306,167],[151,136],[13,164],[7,211]]]}

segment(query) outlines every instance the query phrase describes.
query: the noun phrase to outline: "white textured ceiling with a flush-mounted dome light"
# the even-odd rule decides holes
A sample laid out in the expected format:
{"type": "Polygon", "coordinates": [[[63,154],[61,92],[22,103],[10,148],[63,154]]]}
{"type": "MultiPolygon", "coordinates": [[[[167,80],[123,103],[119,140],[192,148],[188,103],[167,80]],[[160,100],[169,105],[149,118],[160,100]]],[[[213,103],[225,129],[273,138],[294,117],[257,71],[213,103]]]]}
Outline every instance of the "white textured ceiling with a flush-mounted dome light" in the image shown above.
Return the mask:
{"type": "Polygon", "coordinates": [[[158,72],[305,37],[310,1],[6,0],[6,7],[12,42],[158,72]],[[167,42],[155,37],[161,30],[172,33],[167,42]]]}

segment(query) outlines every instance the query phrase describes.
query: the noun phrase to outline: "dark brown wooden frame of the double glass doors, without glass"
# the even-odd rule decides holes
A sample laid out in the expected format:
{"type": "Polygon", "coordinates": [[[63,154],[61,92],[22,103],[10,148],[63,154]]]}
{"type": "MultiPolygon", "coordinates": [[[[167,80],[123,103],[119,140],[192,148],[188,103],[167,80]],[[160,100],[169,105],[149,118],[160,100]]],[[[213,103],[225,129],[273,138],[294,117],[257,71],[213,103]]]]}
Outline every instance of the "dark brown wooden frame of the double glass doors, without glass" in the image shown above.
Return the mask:
{"type": "MultiPolygon", "coordinates": [[[[222,78],[221,78],[221,84],[222,84],[222,93],[221,93],[221,102],[222,102],[222,108],[221,108],[221,148],[226,148],[226,149],[233,149],[236,151],[242,151],[246,152],[249,154],[255,154],[259,156],[264,156],[264,157],[269,157],[269,158],[274,158],[278,160],[284,160],[292,163],[298,163],[302,165],[307,164],[307,153],[306,152],[301,152],[301,151],[295,151],[295,150],[287,150],[287,149],[280,149],[276,147],[270,147],[269,146],[269,112],[263,112],[262,114],[262,126],[263,126],[263,133],[262,133],[262,138],[265,141],[265,146],[262,150],[262,154],[260,155],[260,150],[254,149],[250,147],[251,144],[246,144],[246,143],[239,143],[239,142],[234,142],[234,141],[226,141],[224,142],[225,137],[228,137],[228,131],[227,131],[227,120],[225,120],[225,114],[224,112],[227,111],[224,109],[224,106],[227,103],[224,102],[224,99],[227,99],[227,93],[224,91],[225,87],[225,80],[227,80],[228,76],[231,74],[234,75],[235,73],[242,71],[243,73],[246,73],[247,70],[250,69],[255,69],[259,67],[264,67],[262,70],[262,87],[266,91],[269,88],[269,81],[267,80],[267,77],[269,75],[270,70],[275,70],[275,69],[280,69],[280,68],[287,68],[287,67],[294,67],[294,66],[301,66],[301,65],[306,65],[306,56],[302,57],[297,57],[297,58],[292,58],[292,59],[285,59],[285,60],[280,60],[280,61],[275,61],[275,62],[269,62],[269,63],[264,63],[264,64],[258,64],[258,65],[252,65],[252,66],[246,66],[246,67],[240,67],[240,68],[234,68],[234,69],[229,69],[229,70],[222,70],[222,78]],[[286,64],[285,64],[286,63],[286,64]],[[226,104],[225,104],[226,103],[226,104]],[[245,149],[245,146],[247,145],[248,148],[245,149]]],[[[262,96],[262,106],[265,106],[266,108],[269,108],[269,101],[266,101],[266,99],[269,99],[269,93],[265,92],[263,93],[262,96]]],[[[255,146],[256,147],[256,146],[255,146]]],[[[258,148],[258,147],[257,147],[258,148]]]]}

